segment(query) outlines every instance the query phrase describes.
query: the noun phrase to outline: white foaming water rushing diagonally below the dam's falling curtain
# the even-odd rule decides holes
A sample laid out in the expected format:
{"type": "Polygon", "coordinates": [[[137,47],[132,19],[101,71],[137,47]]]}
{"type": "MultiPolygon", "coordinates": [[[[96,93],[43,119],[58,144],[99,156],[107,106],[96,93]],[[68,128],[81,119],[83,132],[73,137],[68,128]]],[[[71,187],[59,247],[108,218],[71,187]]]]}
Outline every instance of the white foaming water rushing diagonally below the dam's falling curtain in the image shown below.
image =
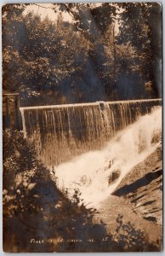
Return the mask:
{"type": "Polygon", "coordinates": [[[89,151],[54,166],[57,185],[68,189],[70,197],[78,189],[87,207],[98,208],[122,178],[156,149],[161,136],[162,108],[158,107],[117,132],[101,150],[89,151]]]}

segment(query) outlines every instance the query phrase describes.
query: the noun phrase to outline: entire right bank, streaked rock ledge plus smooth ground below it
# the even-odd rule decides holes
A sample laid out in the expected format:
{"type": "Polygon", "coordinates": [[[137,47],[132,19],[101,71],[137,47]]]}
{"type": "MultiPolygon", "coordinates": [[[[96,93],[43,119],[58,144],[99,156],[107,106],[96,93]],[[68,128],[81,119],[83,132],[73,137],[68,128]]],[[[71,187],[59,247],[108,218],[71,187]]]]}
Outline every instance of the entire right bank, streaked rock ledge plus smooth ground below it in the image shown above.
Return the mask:
{"type": "MultiPolygon", "coordinates": [[[[162,146],[129,172],[100,205],[95,221],[106,224],[107,233],[117,232],[117,217],[134,224],[151,244],[162,250],[162,146]]],[[[131,229],[130,236],[131,236],[131,229]]],[[[145,251],[145,247],[141,247],[145,251]]]]}

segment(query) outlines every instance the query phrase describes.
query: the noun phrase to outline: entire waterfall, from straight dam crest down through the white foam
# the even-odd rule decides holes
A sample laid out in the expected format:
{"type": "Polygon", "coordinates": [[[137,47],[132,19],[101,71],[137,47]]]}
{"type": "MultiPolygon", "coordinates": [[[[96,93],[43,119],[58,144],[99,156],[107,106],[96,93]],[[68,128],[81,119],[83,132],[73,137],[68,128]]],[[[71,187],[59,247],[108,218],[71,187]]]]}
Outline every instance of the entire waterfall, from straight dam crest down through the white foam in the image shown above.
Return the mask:
{"type": "Polygon", "coordinates": [[[98,207],[161,140],[160,99],[20,108],[25,137],[69,195],[98,207]]]}

